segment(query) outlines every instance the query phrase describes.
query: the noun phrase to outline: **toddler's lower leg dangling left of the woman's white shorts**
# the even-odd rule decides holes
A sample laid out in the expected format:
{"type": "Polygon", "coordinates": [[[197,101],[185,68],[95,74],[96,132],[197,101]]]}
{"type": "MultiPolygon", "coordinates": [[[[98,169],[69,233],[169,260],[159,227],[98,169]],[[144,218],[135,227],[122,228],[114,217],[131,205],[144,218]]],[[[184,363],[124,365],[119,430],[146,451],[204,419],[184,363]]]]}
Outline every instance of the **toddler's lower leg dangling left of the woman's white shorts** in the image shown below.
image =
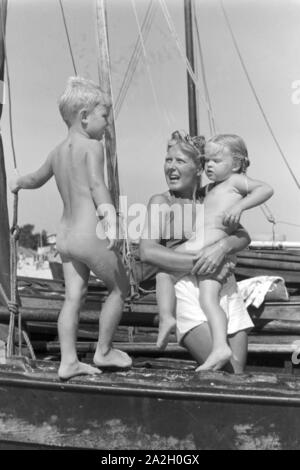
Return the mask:
{"type": "Polygon", "coordinates": [[[176,295],[172,277],[167,273],[156,275],[156,300],[159,311],[159,327],[156,346],[165,349],[169,335],[176,325],[176,295]]]}

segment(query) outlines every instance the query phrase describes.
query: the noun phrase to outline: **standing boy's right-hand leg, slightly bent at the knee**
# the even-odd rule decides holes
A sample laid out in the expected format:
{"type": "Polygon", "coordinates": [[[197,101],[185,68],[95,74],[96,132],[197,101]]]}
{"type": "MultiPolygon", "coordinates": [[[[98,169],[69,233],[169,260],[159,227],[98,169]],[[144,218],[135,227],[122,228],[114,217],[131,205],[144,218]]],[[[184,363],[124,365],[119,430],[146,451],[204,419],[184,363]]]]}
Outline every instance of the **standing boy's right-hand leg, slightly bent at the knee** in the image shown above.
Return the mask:
{"type": "Polygon", "coordinates": [[[109,292],[99,318],[99,339],[94,363],[98,367],[129,368],[132,360],[128,354],[112,347],[113,336],[120,323],[129,291],[125,268],[119,255],[107,250],[106,246],[100,250],[98,246],[98,252],[95,250],[93,253],[96,259],[91,269],[105,283],[109,292]]]}

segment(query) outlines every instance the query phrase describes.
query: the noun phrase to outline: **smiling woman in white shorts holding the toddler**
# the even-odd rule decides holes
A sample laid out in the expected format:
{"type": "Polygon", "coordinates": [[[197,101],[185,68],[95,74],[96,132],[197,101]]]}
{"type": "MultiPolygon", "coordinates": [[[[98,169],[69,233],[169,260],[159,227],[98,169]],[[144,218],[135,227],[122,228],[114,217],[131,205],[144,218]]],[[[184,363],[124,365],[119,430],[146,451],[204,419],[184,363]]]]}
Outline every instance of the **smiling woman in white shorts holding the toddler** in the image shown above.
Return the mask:
{"type": "MultiPolygon", "coordinates": [[[[203,214],[203,197],[198,191],[199,175],[202,171],[201,154],[204,139],[191,139],[181,133],[173,133],[175,142],[165,159],[165,176],[169,190],[152,196],[140,243],[141,260],[155,265],[159,271],[181,274],[175,284],[176,326],[178,340],[199,364],[207,359],[212,349],[212,340],[207,319],[200,307],[197,276],[210,275],[218,271],[224,259],[244,248],[250,242],[247,232],[239,227],[233,235],[222,242],[202,248],[195,258],[173,248],[188,238],[193,230],[195,216],[203,214]],[[178,215],[179,214],[179,215],[178,215]]],[[[203,217],[202,217],[203,218],[203,217]]],[[[238,293],[230,263],[220,271],[224,283],[221,305],[228,316],[228,342],[232,349],[231,366],[235,373],[243,372],[247,358],[247,331],[252,321],[238,293]]]]}

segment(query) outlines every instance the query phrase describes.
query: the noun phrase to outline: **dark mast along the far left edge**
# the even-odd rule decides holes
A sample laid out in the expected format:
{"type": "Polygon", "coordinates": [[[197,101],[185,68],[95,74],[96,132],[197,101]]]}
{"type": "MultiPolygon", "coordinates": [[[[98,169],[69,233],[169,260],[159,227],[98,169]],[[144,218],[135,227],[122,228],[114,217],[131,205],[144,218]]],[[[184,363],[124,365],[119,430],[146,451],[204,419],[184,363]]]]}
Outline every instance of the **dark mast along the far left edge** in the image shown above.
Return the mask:
{"type": "MultiPolygon", "coordinates": [[[[0,80],[4,86],[4,66],[5,66],[5,25],[7,13],[7,0],[0,2],[0,80]]],[[[0,103],[0,119],[2,116],[3,103],[0,103]]],[[[7,184],[4,162],[4,152],[2,136],[0,134],[0,283],[5,294],[10,298],[10,249],[9,249],[9,221],[7,209],[7,184]]],[[[0,293],[0,304],[6,305],[0,293]]]]}

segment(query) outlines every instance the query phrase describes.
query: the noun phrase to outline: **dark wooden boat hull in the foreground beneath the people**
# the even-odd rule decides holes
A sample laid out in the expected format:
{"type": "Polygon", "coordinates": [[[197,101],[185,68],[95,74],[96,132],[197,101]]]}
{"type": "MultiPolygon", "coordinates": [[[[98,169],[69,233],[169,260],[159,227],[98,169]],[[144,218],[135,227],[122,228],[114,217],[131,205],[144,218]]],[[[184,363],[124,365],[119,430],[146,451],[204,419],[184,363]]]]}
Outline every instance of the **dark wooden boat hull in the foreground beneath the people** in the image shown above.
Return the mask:
{"type": "Polygon", "coordinates": [[[298,449],[300,379],[138,369],[61,382],[0,367],[0,447],[298,449]]]}

